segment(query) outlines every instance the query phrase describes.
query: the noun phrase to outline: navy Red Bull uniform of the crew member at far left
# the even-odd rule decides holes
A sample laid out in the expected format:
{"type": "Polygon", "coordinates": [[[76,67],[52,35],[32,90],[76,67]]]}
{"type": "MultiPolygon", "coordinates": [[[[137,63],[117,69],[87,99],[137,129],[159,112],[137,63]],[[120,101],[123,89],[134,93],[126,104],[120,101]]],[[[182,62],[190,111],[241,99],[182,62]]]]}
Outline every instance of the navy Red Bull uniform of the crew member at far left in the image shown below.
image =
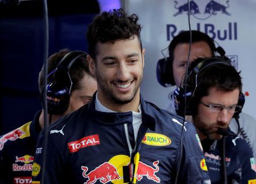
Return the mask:
{"type": "Polygon", "coordinates": [[[33,121],[0,137],[0,183],[32,183],[32,162],[40,133],[39,115],[33,121]]]}

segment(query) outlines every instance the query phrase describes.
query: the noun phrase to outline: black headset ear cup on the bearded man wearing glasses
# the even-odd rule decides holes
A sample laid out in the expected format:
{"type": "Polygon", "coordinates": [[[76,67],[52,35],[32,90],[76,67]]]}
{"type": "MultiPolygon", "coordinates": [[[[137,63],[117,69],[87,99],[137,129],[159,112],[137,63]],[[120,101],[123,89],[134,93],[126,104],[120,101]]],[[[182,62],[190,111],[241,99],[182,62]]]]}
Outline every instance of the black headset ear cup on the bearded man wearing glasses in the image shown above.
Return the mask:
{"type": "Polygon", "coordinates": [[[195,106],[193,103],[193,96],[190,87],[187,85],[187,91],[185,93],[184,86],[176,88],[174,91],[174,106],[177,115],[183,117],[185,115],[193,115],[195,113],[195,106]],[[186,100],[186,107],[184,106],[186,100]]]}

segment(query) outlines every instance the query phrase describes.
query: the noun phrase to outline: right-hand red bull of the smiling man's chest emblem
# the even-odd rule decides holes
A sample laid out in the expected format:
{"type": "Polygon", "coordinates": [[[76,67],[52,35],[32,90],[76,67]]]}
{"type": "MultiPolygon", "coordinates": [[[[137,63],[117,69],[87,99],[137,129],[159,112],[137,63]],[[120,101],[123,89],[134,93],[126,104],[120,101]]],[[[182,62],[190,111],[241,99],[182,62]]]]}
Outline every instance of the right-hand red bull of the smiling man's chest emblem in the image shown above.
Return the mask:
{"type": "Polygon", "coordinates": [[[153,180],[156,183],[160,183],[160,178],[155,175],[159,171],[158,167],[159,161],[154,161],[153,165],[155,168],[144,164],[143,162],[139,161],[138,170],[136,174],[136,178],[138,181],[141,181],[143,177],[147,177],[147,179],[153,180]]]}

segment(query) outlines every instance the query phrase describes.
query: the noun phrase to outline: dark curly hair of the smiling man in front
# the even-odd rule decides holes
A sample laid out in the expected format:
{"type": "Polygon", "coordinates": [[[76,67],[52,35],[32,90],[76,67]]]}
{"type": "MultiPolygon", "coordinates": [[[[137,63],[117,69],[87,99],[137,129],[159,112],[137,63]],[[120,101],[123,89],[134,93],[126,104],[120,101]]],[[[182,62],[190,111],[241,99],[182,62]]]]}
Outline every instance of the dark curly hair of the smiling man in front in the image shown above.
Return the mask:
{"type": "Polygon", "coordinates": [[[89,25],[87,32],[89,54],[94,61],[98,41],[101,43],[114,42],[116,40],[133,39],[134,36],[137,36],[142,49],[141,25],[137,23],[138,19],[135,14],[128,16],[122,8],[97,15],[92,24],[89,25]]]}

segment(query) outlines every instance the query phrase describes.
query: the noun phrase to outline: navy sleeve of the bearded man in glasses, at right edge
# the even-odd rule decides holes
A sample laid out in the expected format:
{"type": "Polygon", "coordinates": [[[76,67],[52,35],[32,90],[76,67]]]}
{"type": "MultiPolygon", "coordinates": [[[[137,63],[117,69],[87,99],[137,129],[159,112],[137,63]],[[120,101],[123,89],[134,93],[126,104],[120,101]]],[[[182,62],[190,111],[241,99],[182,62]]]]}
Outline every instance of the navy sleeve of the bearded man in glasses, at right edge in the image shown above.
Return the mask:
{"type": "Polygon", "coordinates": [[[256,183],[256,165],[253,151],[244,140],[238,139],[238,157],[242,166],[242,183],[256,183]]]}

